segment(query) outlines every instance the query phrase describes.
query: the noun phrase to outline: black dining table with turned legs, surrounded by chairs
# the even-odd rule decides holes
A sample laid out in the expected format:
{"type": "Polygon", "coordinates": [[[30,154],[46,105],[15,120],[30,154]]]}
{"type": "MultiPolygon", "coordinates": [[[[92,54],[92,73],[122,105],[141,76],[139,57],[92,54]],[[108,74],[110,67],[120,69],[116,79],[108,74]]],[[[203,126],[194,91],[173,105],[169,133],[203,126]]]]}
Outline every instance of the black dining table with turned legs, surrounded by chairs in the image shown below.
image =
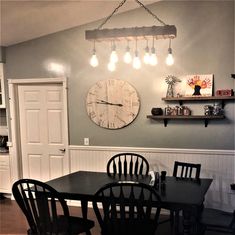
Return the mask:
{"type": "MultiPolygon", "coordinates": [[[[88,202],[95,200],[94,194],[103,185],[117,181],[138,181],[149,184],[150,176],[108,176],[105,172],[78,171],[46,182],[64,198],[80,200],[83,216],[87,217],[88,202]]],[[[199,181],[182,180],[167,176],[163,186],[156,189],[162,200],[162,208],[183,210],[183,234],[191,234],[191,215],[204,201],[212,179],[201,178],[199,181]]]]}

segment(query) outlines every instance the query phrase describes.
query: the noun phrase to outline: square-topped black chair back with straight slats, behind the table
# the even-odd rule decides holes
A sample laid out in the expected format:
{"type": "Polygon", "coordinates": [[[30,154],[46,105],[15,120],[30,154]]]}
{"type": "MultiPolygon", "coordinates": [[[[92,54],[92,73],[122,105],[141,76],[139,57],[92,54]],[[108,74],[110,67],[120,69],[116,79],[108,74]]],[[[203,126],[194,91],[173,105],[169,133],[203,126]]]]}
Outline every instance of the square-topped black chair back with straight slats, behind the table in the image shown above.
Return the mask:
{"type": "Polygon", "coordinates": [[[175,161],[173,176],[187,179],[199,179],[201,164],[175,161]]]}

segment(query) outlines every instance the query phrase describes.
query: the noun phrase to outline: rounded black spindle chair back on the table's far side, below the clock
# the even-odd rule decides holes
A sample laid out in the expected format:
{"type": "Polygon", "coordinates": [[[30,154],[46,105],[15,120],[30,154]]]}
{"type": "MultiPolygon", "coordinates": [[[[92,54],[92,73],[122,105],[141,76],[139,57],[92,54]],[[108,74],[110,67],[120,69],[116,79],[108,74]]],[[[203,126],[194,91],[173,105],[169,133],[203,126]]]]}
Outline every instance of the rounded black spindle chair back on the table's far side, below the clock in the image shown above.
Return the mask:
{"type": "Polygon", "coordinates": [[[119,153],[107,163],[108,175],[148,175],[148,161],[137,153],[119,153]]]}

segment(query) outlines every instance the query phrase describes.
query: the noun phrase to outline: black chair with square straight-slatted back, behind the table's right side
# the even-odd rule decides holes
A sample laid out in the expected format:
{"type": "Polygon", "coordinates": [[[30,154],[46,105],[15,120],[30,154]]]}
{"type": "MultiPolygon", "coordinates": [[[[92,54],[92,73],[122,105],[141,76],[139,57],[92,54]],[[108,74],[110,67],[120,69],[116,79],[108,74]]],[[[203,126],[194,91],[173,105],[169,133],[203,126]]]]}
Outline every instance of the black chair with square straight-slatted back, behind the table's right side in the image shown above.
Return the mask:
{"type": "MultiPolygon", "coordinates": [[[[174,162],[173,176],[179,180],[193,180],[195,181],[195,183],[197,183],[200,181],[200,172],[201,172],[201,164],[179,162],[179,161],[174,162]]],[[[181,210],[172,207],[168,209],[170,210],[170,219],[163,220],[160,223],[165,223],[170,221],[171,227],[172,228],[174,227],[174,233],[179,234],[179,219],[180,219],[181,210]]],[[[199,212],[196,213],[198,214],[199,212]]]]}

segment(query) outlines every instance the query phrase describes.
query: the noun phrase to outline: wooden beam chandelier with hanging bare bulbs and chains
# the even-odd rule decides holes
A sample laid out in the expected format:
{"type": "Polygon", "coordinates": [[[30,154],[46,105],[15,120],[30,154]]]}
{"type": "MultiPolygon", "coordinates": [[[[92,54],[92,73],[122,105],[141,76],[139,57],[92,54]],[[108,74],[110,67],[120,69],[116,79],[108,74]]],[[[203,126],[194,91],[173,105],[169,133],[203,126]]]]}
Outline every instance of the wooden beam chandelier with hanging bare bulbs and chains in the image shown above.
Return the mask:
{"type": "MultiPolygon", "coordinates": [[[[172,65],[174,63],[174,59],[172,57],[172,48],[171,48],[171,39],[176,37],[176,27],[175,25],[168,25],[162,20],[160,20],[152,11],[150,11],[143,3],[139,0],[135,0],[137,4],[139,4],[148,14],[150,14],[155,20],[161,23],[161,26],[150,26],[150,27],[132,27],[132,28],[115,28],[115,29],[102,29],[103,26],[112,18],[112,16],[122,7],[127,0],[122,0],[120,4],[114,9],[114,11],[106,17],[106,19],[100,24],[97,29],[94,30],[86,30],[85,38],[86,40],[92,40],[94,42],[102,42],[102,41],[111,41],[112,52],[110,55],[110,62],[108,68],[110,71],[114,71],[116,69],[116,63],[118,61],[118,55],[116,52],[115,41],[127,40],[128,45],[126,47],[126,53],[124,55],[124,62],[130,64],[132,62],[132,57],[130,54],[129,41],[135,39],[137,40],[148,40],[153,38],[153,46],[151,48],[151,55],[149,54],[148,44],[145,48],[145,56],[144,63],[156,65],[158,63],[156,49],[154,47],[154,40],[160,39],[169,39],[170,45],[168,48],[168,57],[166,59],[166,63],[168,65],[172,65]]],[[[93,50],[93,55],[91,58],[90,64],[93,67],[98,66],[98,59],[96,56],[96,51],[93,50]],[[92,61],[92,62],[91,62],[92,61]]],[[[135,55],[133,58],[132,65],[134,68],[141,67],[141,61],[139,59],[138,51],[135,50],[135,55]],[[134,65],[135,64],[135,65],[134,65]]]]}

